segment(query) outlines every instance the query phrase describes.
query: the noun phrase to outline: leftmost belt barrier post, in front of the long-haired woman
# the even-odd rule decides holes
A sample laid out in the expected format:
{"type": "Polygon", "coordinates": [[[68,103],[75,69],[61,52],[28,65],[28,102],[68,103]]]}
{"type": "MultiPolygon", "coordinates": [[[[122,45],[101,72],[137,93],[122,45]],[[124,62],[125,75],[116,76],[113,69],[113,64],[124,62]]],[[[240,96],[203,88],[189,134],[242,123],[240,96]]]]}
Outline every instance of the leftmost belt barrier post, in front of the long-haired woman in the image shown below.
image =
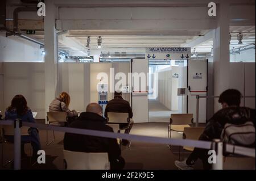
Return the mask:
{"type": "Polygon", "coordinates": [[[15,119],[14,121],[14,170],[20,170],[20,127],[22,127],[22,120],[15,119]]]}

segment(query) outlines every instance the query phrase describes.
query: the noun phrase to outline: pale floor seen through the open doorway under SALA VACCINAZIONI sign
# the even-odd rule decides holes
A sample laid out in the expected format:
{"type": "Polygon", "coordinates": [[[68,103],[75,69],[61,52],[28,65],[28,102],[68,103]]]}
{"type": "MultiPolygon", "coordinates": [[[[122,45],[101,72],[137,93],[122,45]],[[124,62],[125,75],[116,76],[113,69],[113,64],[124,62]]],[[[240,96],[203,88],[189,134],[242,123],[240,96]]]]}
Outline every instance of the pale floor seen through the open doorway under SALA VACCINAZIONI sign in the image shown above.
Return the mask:
{"type": "Polygon", "coordinates": [[[178,113],[178,111],[171,111],[163,104],[161,104],[158,100],[149,99],[148,100],[149,107],[149,121],[150,122],[170,122],[171,113],[178,113]]]}

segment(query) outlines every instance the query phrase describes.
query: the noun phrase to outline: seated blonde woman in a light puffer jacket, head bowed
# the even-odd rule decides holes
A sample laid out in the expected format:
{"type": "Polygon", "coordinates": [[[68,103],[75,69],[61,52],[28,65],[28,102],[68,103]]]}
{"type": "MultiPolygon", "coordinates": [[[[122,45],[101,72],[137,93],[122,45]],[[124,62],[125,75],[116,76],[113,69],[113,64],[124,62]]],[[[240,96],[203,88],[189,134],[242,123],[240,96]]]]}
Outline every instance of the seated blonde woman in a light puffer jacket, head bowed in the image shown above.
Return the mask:
{"type": "Polygon", "coordinates": [[[75,110],[69,110],[68,106],[70,103],[70,96],[67,92],[61,92],[57,98],[52,100],[49,105],[49,112],[67,112],[68,113],[68,123],[77,119],[78,113],[75,110]]]}

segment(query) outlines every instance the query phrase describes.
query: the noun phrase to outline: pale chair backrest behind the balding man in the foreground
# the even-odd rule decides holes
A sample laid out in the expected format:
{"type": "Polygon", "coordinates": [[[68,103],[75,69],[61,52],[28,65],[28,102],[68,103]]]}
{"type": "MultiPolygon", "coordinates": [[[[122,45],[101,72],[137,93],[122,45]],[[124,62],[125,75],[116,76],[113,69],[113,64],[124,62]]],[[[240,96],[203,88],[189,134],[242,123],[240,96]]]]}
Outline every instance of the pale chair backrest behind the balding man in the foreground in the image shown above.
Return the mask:
{"type": "Polygon", "coordinates": [[[63,150],[68,170],[109,170],[108,153],[84,153],[63,150]]]}

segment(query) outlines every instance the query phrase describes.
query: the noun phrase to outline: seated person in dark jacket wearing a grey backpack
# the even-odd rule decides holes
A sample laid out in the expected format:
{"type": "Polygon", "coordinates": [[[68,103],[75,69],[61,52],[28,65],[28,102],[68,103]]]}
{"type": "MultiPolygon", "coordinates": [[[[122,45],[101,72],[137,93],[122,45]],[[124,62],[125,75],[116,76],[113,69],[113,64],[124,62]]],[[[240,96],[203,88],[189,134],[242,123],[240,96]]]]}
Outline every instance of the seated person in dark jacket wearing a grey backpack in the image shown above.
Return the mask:
{"type": "MultiPolygon", "coordinates": [[[[226,123],[244,124],[246,121],[252,121],[255,127],[255,111],[250,108],[240,107],[241,93],[238,90],[225,90],[220,95],[218,102],[221,103],[222,109],[216,112],[209,120],[199,140],[212,141],[213,139],[220,139],[226,123]]],[[[195,148],[187,159],[181,162],[175,161],[175,165],[181,170],[191,170],[196,160],[200,158],[204,169],[211,169],[212,166],[208,163],[208,151],[207,149],[195,148]]]]}

